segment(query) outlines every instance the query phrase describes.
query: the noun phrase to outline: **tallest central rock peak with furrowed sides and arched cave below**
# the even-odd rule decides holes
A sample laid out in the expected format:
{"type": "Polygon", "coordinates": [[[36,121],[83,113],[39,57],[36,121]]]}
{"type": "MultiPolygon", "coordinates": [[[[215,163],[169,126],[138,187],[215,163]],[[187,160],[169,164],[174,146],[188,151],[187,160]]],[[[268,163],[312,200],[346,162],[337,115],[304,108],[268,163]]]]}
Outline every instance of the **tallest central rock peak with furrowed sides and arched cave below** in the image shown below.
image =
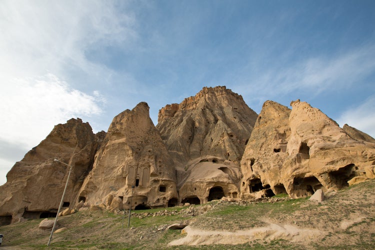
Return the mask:
{"type": "Polygon", "coordinates": [[[156,127],[173,157],[180,202],[237,197],[239,162],[256,117],[225,86],[204,87],[159,110],[156,127]]]}

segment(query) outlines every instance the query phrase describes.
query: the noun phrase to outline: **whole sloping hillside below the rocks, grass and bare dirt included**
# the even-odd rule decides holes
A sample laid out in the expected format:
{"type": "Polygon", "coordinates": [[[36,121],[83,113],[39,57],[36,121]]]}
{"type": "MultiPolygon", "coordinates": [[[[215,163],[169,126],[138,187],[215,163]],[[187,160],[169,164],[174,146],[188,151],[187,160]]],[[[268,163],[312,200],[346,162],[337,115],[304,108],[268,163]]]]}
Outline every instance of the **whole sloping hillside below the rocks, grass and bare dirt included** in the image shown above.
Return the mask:
{"type": "MultiPolygon", "coordinates": [[[[321,203],[283,195],[246,201],[136,210],[127,214],[81,210],[59,217],[51,249],[370,249],[375,243],[375,180],[326,193],[321,203]],[[173,223],[188,224],[168,230],[173,223]],[[181,244],[182,245],[179,245],[181,244]],[[218,244],[220,243],[220,244],[218,244]]],[[[51,218],[52,219],[52,218],[51,218]]],[[[46,248],[50,230],[29,219],[0,227],[2,249],[46,248]]]]}

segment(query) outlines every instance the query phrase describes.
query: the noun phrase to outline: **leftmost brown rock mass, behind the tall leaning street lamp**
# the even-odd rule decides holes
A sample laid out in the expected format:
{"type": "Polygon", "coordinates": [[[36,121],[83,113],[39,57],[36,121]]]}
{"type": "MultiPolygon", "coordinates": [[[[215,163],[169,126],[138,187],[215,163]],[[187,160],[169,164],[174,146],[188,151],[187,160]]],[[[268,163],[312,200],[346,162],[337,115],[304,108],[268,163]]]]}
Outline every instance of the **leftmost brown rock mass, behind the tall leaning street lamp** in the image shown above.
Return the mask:
{"type": "Polygon", "coordinates": [[[77,118],[55,125],[7,173],[7,182],[0,186],[0,216],[11,216],[14,222],[22,216],[39,218],[57,211],[69,167],[53,159],[73,166],[63,200],[64,206],[73,206],[96,148],[97,141],[87,122],[77,118]]]}

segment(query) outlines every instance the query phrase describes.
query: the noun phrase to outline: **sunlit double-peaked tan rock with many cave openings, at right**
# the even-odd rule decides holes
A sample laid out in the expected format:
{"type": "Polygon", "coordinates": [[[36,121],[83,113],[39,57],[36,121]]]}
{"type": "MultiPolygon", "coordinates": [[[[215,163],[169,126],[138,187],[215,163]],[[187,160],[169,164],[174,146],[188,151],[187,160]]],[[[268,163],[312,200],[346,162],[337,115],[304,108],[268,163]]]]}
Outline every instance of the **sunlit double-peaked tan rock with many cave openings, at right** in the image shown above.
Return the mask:
{"type": "Polygon", "coordinates": [[[264,103],[241,161],[243,198],[258,191],[308,196],[319,188],[340,189],[357,175],[371,176],[374,143],[353,139],[306,102],[290,104],[291,110],[264,103]]]}

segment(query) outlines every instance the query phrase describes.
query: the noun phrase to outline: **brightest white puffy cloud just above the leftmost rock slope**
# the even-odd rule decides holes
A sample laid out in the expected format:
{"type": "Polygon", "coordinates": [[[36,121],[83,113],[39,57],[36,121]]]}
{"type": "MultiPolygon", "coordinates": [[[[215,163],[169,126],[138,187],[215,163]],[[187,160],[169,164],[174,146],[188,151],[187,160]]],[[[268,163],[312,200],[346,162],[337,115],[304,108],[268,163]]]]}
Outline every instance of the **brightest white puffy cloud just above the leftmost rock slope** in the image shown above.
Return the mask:
{"type": "MultiPolygon", "coordinates": [[[[13,79],[0,93],[0,139],[37,145],[57,123],[101,112],[95,95],[71,88],[52,74],[36,79],[13,79]]],[[[96,95],[98,93],[95,93],[96,95]]]]}

